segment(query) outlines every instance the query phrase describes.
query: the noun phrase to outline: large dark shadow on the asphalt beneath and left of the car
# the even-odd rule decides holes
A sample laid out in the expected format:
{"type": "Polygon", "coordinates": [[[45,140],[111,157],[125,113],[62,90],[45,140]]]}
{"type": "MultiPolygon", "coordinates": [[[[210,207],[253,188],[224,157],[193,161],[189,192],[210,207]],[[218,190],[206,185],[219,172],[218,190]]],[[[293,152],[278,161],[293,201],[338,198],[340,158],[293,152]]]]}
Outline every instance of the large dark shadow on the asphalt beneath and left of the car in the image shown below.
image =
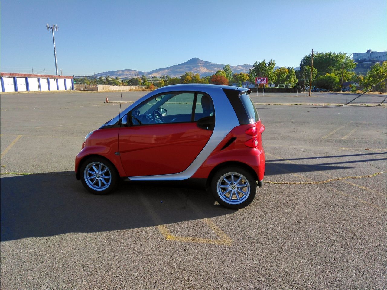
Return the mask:
{"type": "Polygon", "coordinates": [[[72,171],[1,178],[1,241],[150,227],[235,212],[204,190],[124,182],[94,195],[72,171]]]}

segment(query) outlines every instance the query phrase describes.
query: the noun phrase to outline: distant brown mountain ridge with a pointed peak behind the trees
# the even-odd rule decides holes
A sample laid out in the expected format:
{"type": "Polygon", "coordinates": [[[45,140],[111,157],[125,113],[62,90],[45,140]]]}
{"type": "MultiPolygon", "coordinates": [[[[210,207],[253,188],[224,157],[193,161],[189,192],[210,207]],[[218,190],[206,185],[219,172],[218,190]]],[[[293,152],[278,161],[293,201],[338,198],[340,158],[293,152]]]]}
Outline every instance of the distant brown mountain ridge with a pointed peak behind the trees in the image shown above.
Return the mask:
{"type": "MultiPolygon", "coordinates": [[[[110,70],[108,72],[96,73],[96,76],[106,77],[125,77],[131,78],[141,75],[148,77],[161,77],[162,75],[169,75],[170,77],[180,77],[186,72],[199,73],[200,77],[213,75],[217,70],[223,70],[225,65],[220,63],[212,63],[209,61],[201,60],[200,58],[191,58],[188,61],[180,63],[179,65],[173,65],[166,68],[158,68],[151,70],[150,72],[142,72],[139,70],[110,70]]],[[[248,73],[248,70],[253,65],[230,65],[233,73],[248,73]]]]}

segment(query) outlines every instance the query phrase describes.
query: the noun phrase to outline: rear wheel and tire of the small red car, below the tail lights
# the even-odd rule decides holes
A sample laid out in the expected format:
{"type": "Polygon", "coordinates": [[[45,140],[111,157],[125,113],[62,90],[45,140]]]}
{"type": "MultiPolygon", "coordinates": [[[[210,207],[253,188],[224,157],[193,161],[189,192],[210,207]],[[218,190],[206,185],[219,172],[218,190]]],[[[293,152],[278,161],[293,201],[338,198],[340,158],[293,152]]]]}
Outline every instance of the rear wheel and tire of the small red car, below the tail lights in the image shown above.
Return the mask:
{"type": "Polygon", "coordinates": [[[225,167],[212,177],[211,192],[220,205],[240,209],[254,200],[257,181],[250,172],[241,167],[225,167]]]}

